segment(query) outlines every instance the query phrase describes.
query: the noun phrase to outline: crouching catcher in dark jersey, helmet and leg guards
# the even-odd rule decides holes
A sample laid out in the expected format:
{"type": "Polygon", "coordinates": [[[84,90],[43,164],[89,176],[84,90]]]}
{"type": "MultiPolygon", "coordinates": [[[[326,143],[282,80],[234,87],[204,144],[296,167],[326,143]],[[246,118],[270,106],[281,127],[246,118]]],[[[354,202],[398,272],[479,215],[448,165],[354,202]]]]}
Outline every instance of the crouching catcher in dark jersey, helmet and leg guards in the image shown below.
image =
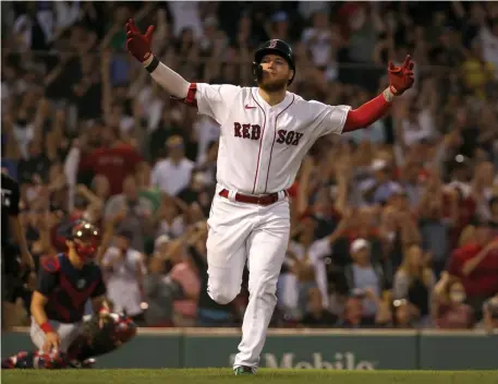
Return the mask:
{"type": "Polygon", "coordinates": [[[31,313],[31,337],[38,348],[2,360],[2,368],[88,368],[94,357],[129,341],[136,333],[127,317],[110,313],[106,287],[94,257],[100,244],[96,227],[85,221],[65,233],[68,251],[40,263],[31,313]],[[94,315],[84,320],[92,300],[94,315]]]}

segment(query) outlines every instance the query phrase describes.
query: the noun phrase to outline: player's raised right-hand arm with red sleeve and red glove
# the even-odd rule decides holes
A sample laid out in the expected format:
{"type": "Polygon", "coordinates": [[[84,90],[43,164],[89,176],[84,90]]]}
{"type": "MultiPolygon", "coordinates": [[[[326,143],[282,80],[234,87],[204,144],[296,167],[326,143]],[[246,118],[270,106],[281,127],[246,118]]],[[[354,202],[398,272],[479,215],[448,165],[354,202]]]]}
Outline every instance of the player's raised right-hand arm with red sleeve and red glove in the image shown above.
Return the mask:
{"type": "Polygon", "coordinates": [[[350,110],[342,132],[366,128],[386,115],[394,97],[402,95],[412,87],[414,65],[415,63],[410,56],[406,56],[401,67],[394,67],[392,62],[389,62],[389,87],[372,100],[350,110]]]}

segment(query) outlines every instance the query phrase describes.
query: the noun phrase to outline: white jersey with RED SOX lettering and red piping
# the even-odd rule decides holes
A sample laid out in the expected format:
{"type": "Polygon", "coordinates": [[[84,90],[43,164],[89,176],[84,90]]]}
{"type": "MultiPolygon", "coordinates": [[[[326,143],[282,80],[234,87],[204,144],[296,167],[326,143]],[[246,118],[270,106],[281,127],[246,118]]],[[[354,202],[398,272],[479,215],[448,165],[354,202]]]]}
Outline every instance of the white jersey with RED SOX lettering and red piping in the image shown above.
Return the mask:
{"type": "Polygon", "coordinates": [[[290,188],[311,146],[323,135],[341,134],[351,109],[290,92],[270,106],[257,87],[193,83],[191,98],[193,92],[198,112],[221,125],[218,182],[245,194],[290,188]]]}

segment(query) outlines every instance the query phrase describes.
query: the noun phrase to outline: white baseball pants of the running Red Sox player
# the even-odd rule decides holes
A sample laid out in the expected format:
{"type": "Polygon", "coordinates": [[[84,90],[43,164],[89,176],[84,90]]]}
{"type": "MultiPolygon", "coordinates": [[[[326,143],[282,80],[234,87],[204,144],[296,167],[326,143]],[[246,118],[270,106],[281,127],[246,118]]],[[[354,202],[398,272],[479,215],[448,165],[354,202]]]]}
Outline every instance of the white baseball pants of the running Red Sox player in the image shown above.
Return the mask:
{"type": "Polygon", "coordinates": [[[250,272],[250,301],[242,341],[233,367],[256,368],[277,304],[277,281],[290,233],[289,201],[283,192],[271,205],[239,203],[234,192],[221,197],[217,188],[208,219],[208,293],[228,304],[240,292],[245,262],[250,272]]]}

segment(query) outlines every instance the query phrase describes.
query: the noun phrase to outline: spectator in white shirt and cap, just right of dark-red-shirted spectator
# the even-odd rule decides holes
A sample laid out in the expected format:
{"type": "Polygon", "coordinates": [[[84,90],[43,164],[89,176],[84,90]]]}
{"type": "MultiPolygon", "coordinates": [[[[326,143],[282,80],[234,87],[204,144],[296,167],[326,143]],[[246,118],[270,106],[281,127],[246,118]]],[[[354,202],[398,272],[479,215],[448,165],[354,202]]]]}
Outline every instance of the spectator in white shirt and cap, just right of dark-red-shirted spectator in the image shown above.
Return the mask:
{"type": "Polygon", "coordinates": [[[153,184],[170,196],[175,196],[189,185],[194,163],[185,157],[183,139],[171,136],[166,142],[168,158],[158,161],[153,169],[153,184]]]}

